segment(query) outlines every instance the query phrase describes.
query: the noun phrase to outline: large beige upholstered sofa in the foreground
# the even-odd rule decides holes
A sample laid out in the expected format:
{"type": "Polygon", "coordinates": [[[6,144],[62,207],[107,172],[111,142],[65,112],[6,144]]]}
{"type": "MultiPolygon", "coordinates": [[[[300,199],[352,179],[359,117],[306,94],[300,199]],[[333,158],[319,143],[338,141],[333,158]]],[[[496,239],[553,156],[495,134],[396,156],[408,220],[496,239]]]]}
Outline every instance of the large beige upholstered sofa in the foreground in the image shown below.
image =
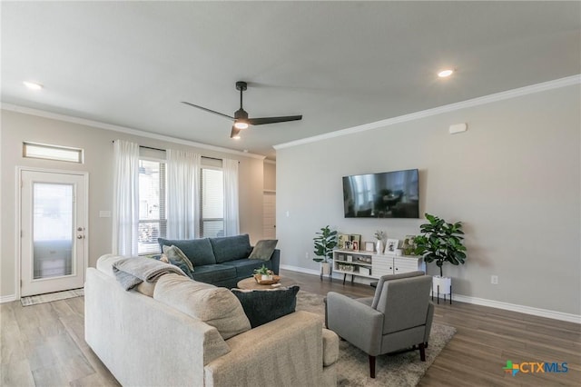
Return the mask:
{"type": "Polygon", "coordinates": [[[85,340],[124,386],[335,386],[339,339],[297,311],[250,328],[228,289],[165,274],[131,291],[87,270],[85,340]]]}

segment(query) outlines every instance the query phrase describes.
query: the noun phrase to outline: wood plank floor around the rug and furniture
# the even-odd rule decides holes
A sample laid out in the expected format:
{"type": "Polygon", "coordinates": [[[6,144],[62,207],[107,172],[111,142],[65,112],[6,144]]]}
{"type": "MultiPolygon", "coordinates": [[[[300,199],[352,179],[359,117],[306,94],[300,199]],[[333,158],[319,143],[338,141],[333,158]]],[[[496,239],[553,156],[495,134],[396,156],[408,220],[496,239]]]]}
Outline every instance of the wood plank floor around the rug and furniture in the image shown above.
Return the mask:
{"type": "MultiPolygon", "coordinates": [[[[373,289],[355,283],[320,281],[318,276],[282,271],[301,290],[355,297],[373,289]]],[[[420,386],[581,385],[581,325],[468,303],[440,303],[435,322],[458,332],[439,354],[420,386]],[[566,362],[566,373],[517,373],[507,360],[566,362]]],[[[116,386],[110,372],[84,342],[84,299],[23,307],[0,305],[1,386],[116,386]]],[[[254,386],[255,387],[255,386],[254,386]]]]}

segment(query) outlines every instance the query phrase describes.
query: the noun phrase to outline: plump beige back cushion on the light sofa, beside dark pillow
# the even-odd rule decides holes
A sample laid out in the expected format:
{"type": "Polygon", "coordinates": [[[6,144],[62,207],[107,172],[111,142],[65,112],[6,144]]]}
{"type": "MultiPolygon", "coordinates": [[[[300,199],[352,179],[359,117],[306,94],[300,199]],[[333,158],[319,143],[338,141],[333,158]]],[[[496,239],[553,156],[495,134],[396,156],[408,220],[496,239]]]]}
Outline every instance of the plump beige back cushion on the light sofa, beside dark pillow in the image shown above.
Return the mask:
{"type": "Polygon", "coordinates": [[[158,280],[153,298],[212,325],[224,340],[251,329],[241,303],[226,288],[166,274],[158,280]]]}

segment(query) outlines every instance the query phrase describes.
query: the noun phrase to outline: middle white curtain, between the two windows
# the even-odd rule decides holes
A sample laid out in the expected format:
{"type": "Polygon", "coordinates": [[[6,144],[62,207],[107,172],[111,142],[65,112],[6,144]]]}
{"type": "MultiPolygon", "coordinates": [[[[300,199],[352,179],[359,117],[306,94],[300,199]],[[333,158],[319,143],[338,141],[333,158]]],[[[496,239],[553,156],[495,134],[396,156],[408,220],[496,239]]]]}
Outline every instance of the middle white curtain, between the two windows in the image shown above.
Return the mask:
{"type": "Polygon", "coordinates": [[[200,168],[202,156],[167,150],[167,237],[193,239],[199,236],[200,168]]]}

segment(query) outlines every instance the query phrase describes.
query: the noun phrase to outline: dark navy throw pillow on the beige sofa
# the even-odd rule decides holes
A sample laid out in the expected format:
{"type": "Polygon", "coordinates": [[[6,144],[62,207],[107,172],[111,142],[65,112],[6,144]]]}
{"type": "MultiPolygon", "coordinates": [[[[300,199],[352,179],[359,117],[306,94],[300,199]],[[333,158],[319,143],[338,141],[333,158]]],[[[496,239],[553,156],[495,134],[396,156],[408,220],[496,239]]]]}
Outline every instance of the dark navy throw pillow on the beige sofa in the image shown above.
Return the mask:
{"type": "Polygon", "coordinates": [[[293,313],[297,306],[299,289],[299,286],[295,285],[288,289],[276,290],[232,289],[232,293],[240,300],[244,313],[251,321],[251,327],[255,328],[293,313]]]}

